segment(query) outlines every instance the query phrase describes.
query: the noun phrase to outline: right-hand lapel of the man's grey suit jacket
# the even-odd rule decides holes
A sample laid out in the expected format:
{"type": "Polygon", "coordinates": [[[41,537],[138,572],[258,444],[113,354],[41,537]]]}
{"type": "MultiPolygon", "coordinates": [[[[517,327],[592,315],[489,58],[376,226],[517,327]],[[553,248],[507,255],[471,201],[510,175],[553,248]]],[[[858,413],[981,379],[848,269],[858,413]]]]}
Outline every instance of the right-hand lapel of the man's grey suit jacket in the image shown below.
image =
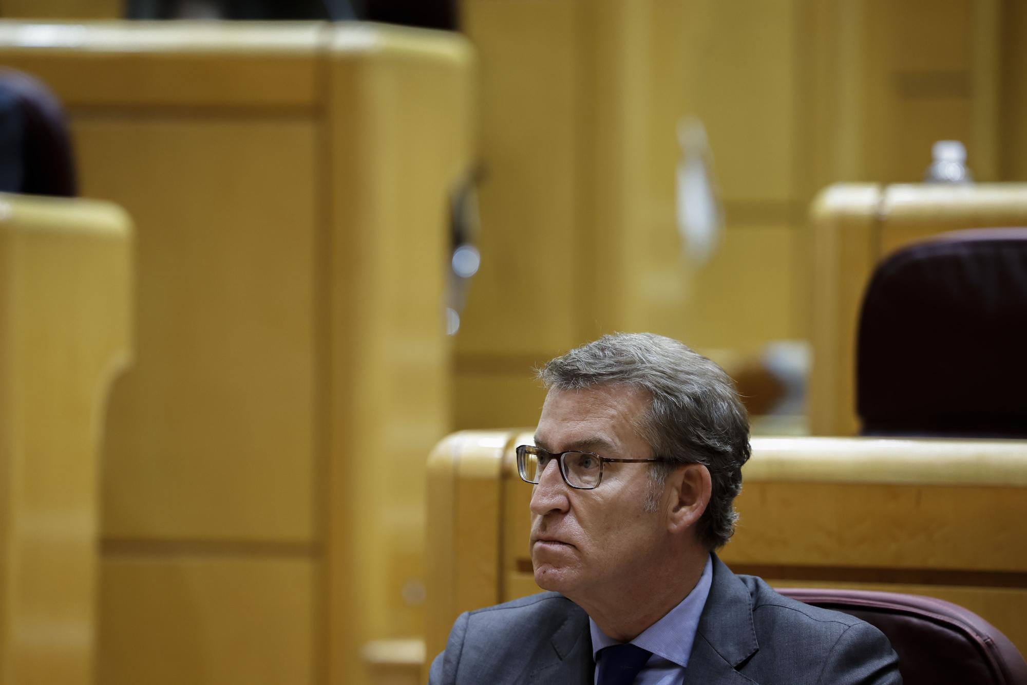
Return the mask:
{"type": "Polygon", "coordinates": [[[735,669],[759,649],[749,589],[713,555],[713,583],[688,656],[685,685],[753,683],[735,669]]]}

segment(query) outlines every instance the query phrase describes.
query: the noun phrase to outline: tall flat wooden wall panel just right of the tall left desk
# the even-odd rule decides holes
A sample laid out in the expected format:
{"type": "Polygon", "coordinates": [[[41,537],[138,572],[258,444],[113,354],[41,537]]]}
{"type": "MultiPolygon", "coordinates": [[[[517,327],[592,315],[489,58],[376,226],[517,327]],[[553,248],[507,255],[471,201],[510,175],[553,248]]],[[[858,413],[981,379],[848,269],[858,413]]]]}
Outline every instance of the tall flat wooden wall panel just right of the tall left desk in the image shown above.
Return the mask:
{"type": "Polygon", "coordinates": [[[561,266],[577,248],[579,108],[568,0],[464,2],[480,53],[482,266],[456,338],[458,355],[551,356],[577,339],[578,279],[561,266]],[[531,49],[525,49],[530,37],[531,49]],[[497,335],[497,315],[504,330],[497,335]]]}

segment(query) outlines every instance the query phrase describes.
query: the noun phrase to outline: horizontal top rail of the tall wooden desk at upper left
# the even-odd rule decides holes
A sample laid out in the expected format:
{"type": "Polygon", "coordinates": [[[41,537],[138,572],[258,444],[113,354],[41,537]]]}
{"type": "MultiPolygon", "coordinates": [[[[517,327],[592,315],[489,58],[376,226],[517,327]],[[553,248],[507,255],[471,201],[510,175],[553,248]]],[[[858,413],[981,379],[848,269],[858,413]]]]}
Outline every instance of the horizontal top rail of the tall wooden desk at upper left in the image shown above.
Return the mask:
{"type": "Polygon", "coordinates": [[[321,89],[317,23],[106,22],[0,25],[4,66],[69,107],[309,110],[321,89]]]}

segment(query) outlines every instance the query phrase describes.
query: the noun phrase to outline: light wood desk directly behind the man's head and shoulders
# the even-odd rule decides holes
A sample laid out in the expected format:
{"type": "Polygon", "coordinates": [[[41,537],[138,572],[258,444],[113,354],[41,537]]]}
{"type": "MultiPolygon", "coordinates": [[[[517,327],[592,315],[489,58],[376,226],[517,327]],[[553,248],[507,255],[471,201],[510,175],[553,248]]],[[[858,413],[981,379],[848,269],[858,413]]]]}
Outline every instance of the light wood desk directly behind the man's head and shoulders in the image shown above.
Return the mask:
{"type": "MultiPolygon", "coordinates": [[[[460,612],[539,591],[531,488],[514,458],[531,440],[456,433],[432,452],[428,660],[460,612]],[[467,517],[499,535],[461,537],[467,517]]],[[[1027,534],[1010,524],[1027,506],[1027,442],[761,437],[743,477],[738,529],[719,552],[735,572],[947,599],[1027,650],[1027,534]]]]}

